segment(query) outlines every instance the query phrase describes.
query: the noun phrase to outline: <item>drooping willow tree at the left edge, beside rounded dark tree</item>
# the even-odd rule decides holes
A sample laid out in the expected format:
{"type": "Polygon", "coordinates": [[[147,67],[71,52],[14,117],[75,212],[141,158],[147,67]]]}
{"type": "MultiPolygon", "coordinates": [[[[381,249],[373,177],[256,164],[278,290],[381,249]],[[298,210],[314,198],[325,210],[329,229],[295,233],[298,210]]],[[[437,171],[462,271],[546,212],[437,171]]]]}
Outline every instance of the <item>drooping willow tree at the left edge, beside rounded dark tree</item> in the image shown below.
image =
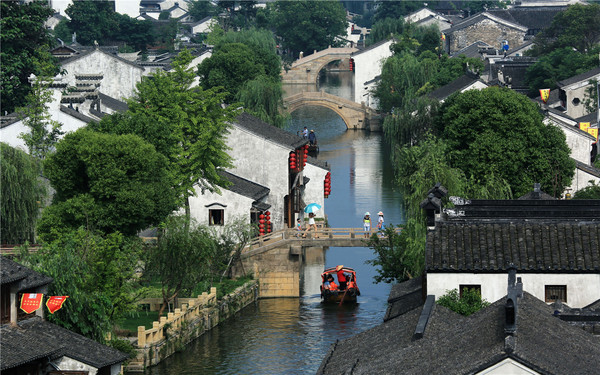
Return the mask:
{"type": "Polygon", "coordinates": [[[0,242],[35,242],[35,226],[45,189],[39,161],[0,142],[0,242]]]}

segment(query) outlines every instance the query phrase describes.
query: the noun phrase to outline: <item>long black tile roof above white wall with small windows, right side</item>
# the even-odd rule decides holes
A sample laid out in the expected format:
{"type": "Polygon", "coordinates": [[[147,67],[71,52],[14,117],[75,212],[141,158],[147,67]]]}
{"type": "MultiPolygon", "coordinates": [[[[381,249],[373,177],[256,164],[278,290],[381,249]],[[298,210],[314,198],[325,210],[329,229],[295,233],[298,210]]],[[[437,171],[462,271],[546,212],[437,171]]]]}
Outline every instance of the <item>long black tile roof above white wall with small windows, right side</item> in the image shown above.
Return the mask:
{"type": "Polygon", "coordinates": [[[600,272],[600,221],[438,222],[427,234],[428,272],[600,272]]]}

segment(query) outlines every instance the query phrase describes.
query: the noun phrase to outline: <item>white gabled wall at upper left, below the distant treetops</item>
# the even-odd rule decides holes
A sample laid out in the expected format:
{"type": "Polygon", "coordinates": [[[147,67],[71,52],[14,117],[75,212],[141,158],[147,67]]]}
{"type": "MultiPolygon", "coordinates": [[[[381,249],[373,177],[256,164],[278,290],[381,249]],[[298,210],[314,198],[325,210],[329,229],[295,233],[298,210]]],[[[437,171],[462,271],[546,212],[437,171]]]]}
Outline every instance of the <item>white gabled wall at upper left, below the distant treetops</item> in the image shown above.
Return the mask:
{"type": "Polygon", "coordinates": [[[126,63],[100,50],[66,62],[62,68],[66,70],[63,82],[69,86],[75,86],[77,74],[101,73],[100,92],[118,100],[133,96],[135,85],[141,81],[144,71],[141,66],[126,63]]]}

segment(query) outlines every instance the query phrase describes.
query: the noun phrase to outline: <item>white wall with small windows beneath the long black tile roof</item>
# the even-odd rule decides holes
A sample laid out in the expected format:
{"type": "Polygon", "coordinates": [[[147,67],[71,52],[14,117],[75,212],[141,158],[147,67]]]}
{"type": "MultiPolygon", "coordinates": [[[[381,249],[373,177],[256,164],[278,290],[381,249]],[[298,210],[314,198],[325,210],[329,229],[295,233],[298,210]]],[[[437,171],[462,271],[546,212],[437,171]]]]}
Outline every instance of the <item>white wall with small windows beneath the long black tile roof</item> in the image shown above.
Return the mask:
{"type": "MultiPolygon", "coordinates": [[[[522,273],[523,290],[545,300],[545,285],[566,285],[567,305],[580,308],[600,299],[600,274],[522,273]]],[[[459,285],[481,285],[481,296],[495,302],[507,293],[507,273],[427,273],[427,294],[436,298],[459,285]]],[[[564,301],[563,301],[564,302],[564,301]]]]}

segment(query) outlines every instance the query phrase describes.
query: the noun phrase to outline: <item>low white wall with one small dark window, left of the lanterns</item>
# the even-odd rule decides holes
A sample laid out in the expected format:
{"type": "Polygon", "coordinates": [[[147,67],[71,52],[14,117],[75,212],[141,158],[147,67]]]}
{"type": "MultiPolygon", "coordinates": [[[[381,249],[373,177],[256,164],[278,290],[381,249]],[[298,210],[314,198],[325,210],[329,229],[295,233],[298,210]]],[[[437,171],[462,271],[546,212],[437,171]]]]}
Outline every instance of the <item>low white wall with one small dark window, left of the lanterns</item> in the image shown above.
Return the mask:
{"type": "MultiPolygon", "coordinates": [[[[252,208],[253,200],[251,198],[239,195],[231,192],[224,188],[221,188],[221,194],[205,192],[202,194],[198,188],[196,188],[196,196],[190,197],[190,213],[193,219],[195,219],[200,225],[207,225],[208,222],[208,210],[209,209],[223,209],[224,212],[224,224],[228,225],[236,218],[241,218],[250,222],[250,209],[252,208]],[[212,206],[206,207],[213,203],[219,203],[227,207],[212,206]]],[[[183,213],[181,211],[180,213],[183,213]]]]}

